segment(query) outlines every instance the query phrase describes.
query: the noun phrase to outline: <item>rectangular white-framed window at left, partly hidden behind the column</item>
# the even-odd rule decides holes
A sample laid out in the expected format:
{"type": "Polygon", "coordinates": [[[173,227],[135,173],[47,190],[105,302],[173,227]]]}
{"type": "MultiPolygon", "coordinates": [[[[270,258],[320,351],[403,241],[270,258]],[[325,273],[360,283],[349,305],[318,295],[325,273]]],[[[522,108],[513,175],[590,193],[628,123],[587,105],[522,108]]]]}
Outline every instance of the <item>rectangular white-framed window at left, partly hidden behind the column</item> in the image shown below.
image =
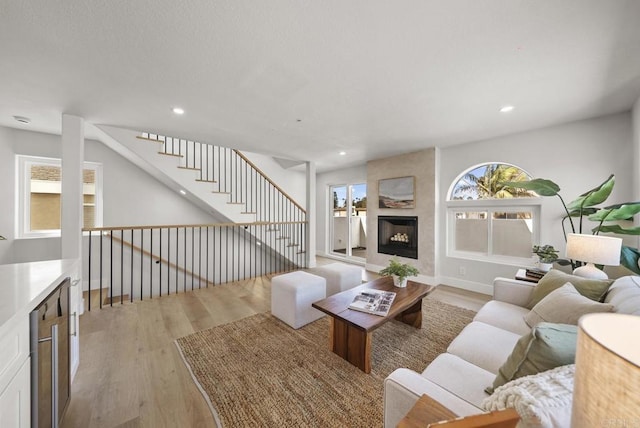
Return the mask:
{"type": "MultiPolygon", "coordinates": [[[[18,237],[60,236],[60,159],[16,156],[18,237]]],[[[85,162],[82,171],[84,227],[102,225],[102,167],[85,162]]]]}

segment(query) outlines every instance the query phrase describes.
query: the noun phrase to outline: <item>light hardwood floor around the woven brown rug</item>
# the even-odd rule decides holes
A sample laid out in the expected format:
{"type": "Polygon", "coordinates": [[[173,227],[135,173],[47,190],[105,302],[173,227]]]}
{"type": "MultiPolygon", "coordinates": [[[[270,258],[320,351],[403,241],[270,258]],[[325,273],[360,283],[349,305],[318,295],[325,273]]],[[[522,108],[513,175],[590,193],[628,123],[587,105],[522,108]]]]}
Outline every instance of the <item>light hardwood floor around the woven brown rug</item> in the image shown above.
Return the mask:
{"type": "MultiPolygon", "coordinates": [[[[473,310],[489,300],[446,286],[430,297],[473,310]]],[[[270,298],[270,277],[261,277],[85,312],[63,428],[215,427],[174,340],[268,311],[270,298]]]]}

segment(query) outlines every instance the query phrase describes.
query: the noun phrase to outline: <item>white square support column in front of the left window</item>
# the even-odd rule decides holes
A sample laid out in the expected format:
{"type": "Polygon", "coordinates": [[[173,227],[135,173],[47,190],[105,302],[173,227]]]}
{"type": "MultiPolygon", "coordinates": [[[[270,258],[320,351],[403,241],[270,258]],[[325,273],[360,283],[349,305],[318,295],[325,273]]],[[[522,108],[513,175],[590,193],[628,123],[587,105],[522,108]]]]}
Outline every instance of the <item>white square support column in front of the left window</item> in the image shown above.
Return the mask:
{"type": "Polygon", "coordinates": [[[61,245],[63,259],[82,255],[84,119],[62,115],[61,245]]]}

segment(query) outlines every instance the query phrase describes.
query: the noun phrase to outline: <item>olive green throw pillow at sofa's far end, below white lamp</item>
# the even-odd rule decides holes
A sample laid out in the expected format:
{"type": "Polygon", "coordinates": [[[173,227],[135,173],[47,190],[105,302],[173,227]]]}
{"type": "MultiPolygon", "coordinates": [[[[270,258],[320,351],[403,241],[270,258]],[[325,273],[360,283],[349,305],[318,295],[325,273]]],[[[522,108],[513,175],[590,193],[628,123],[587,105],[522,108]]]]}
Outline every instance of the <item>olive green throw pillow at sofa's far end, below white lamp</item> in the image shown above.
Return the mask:
{"type": "Polygon", "coordinates": [[[573,286],[576,287],[576,290],[578,290],[578,293],[591,300],[595,300],[596,302],[602,300],[602,297],[607,293],[609,286],[613,284],[613,280],[583,278],[581,276],[564,273],[557,269],[551,269],[542,277],[542,279],[540,279],[536,288],[533,289],[531,300],[527,303],[527,309],[533,309],[533,307],[540,300],[544,299],[547,294],[562,287],[567,282],[573,284],[573,286]]]}

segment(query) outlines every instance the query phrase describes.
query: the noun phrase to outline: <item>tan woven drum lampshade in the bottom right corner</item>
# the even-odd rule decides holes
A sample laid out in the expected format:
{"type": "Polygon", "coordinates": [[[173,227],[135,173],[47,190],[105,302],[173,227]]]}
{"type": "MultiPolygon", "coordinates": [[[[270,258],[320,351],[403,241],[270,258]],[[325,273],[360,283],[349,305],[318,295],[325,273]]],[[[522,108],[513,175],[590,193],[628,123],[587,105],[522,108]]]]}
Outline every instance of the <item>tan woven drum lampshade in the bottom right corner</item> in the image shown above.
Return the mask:
{"type": "Polygon", "coordinates": [[[589,314],[578,324],[571,426],[637,426],[640,317],[589,314]]]}

